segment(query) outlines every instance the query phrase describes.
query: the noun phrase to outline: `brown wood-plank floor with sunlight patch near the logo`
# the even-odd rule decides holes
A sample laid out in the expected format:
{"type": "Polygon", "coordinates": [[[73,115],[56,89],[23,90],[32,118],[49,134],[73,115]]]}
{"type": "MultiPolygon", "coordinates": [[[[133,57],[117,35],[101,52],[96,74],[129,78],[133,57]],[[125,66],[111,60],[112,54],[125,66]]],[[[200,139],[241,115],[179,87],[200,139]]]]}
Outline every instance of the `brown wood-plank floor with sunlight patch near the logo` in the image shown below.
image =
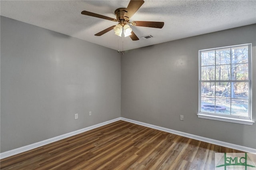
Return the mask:
{"type": "Polygon", "coordinates": [[[125,121],[0,161],[2,170],[214,170],[215,152],[238,150],[125,121]]]}

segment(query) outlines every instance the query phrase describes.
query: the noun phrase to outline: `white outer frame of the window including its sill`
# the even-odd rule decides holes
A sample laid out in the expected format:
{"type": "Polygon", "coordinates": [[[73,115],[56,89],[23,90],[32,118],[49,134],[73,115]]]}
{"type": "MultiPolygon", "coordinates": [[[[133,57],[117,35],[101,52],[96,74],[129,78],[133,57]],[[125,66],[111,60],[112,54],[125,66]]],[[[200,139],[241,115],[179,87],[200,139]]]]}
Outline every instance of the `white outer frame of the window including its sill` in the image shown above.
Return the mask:
{"type": "MultiPolygon", "coordinates": [[[[240,45],[231,45],[226,47],[218,47],[218,48],[211,48],[211,49],[202,49],[198,51],[198,58],[199,58],[199,105],[198,105],[198,117],[204,118],[204,119],[212,119],[217,121],[225,121],[225,122],[231,122],[231,123],[240,123],[245,125],[253,125],[254,121],[252,121],[252,43],[246,43],[246,44],[240,44],[240,45]],[[248,117],[242,117],[242,116],[234,116],[234,115],[224,115],[224,114],[217,114],[217,113],[209,113],[201,111],[201,52],[203,51],[210,51],[210,50],[218,50],[218,49],[224,49],[224,48],[232,48],[232,47],[239,47],[239,46],[245,46],[248,45],[248,83],[249,83],[249,89],[248,89],[248,117]]],[[[215,63],[216,67],[216,63],[215,63]]],[[[215,73],[216,75],[216,73],[215,73]]],[[[203,81],[205,82],[205,81],[203,81]]],[[[214,80],[214,82],[220,82],[214,80]]],[[[226,82],[226,81],[225,81],[226,82]]],[[[231,82],[231,80],[230,80],[231,82]]],[[[216,96],[215,96],[216,97],[216,96]]]]}

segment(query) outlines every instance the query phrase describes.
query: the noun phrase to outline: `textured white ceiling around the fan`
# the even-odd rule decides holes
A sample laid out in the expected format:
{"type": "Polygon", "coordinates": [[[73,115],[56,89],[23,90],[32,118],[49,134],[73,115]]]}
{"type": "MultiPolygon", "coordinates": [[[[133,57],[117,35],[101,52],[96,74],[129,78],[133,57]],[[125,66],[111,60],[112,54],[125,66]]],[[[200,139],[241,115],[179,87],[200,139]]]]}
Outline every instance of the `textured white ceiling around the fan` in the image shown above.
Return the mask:
{"type": "MultiPolygon", "coordinates": [[[[94,34],[117,22],[82,15],[83,10],[116,18],[117,8],[126,8],[129,0],[1,0],[1,15],[28,24],[60,32],[88,42],[118,49],[118,36],[110,31],[94,34]]],[[[140,38],[124,38],[124,50],[144,47],[181,38],[226,30],[256,23],[255,0],[145,0],[130,21],[161,21],[162,29],[131,26],[140,38]]],[[[122,38],[119,38],[122,51],[122,38]]]]}

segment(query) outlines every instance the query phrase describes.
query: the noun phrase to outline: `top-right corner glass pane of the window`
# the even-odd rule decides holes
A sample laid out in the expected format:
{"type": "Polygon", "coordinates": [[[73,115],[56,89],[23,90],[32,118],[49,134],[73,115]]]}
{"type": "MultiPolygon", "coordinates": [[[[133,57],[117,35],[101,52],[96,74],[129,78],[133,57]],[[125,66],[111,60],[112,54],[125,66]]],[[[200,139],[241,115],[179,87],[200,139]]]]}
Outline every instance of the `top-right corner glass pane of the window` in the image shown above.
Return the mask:
{"type": "Polygon", "coordinates": [[[232,64],[248,63],[248,46],[232,47],[232,64]]]}

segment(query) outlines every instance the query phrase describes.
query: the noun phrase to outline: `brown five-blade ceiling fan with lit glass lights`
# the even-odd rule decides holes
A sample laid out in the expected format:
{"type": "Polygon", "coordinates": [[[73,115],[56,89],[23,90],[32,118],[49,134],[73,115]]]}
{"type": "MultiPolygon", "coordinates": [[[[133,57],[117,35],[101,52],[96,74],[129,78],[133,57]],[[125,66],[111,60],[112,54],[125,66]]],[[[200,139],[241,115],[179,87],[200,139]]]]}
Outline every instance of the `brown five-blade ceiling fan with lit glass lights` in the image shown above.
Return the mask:
{"type": "Polygon", "coordinates": [[[139,38],[134,34],[134,32],[132,31],[132,28],[130,28],[128,24],[131,24],[132,26],[142,26],[142,27],[151,27],[151,28],[162,28],[164,26],[164,22],[152,22],[152,21],[130,22],[130,18],[142,6],[143,3],[144,3],[144,0],[131,0],[127,8],[118,8],[115,10],[114,13],[116,15],[116,19],[110,18],[108,16],[96,14],[93,12],[89,12],[89,11],[82,11],[81,14],[118,22],[117,25],[106,28],[105,30],[102,30],[101,32],[98,32],[97,34],[95,34],[95,36],[102,36],[103,34],[114,29],[114,32],[116,35],[122,36],[122,33],[123,33],[125,37],[130,36],[130,38],[133,41],[136,41],[136,40],[139,40],[139,38]]]}

